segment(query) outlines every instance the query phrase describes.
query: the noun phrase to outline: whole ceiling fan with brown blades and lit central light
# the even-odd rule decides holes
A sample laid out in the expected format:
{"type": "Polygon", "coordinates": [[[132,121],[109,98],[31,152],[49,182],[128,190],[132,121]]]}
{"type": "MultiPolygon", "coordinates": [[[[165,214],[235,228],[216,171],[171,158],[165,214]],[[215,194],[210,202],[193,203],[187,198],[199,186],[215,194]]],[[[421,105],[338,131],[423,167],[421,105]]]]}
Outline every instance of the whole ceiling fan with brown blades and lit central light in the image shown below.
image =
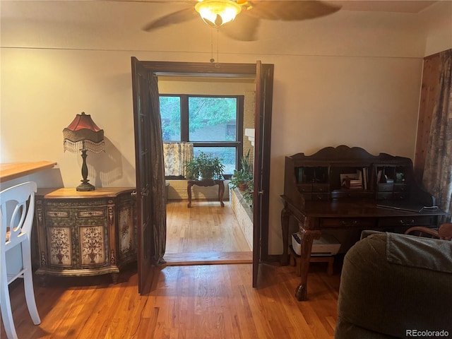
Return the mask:
{"type": "MultiPolygon", "coordinates": [[[[168,3],[169,1],[148,0],[146,2],[168,3]]],[[[212,28],[220,29],[234,40],[253,41],[261,19],[306,20],[319,18],[339,11],[340,6],[320,0],[189,0],[171,1],[186,4],[184,8],[157,18],[143,27],[150,32],[157,28],[184,23],[201,16],[212,28]],[[234,20],[233,23],[231,21],[234,20]]]]}

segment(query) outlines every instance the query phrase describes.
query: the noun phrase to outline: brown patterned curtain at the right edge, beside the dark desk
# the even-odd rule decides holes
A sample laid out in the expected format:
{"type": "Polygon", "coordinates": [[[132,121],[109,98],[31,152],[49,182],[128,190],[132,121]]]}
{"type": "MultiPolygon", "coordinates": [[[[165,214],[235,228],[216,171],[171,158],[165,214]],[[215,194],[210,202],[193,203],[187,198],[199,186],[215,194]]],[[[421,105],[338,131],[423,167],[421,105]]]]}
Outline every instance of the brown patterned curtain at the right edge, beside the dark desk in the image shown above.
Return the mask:
{"type": "Polygon", "coordinates": [[[422,184],[436,198],[439,208],[452,212],[452,49],[440,53],[438,95],[422,184]]]}

